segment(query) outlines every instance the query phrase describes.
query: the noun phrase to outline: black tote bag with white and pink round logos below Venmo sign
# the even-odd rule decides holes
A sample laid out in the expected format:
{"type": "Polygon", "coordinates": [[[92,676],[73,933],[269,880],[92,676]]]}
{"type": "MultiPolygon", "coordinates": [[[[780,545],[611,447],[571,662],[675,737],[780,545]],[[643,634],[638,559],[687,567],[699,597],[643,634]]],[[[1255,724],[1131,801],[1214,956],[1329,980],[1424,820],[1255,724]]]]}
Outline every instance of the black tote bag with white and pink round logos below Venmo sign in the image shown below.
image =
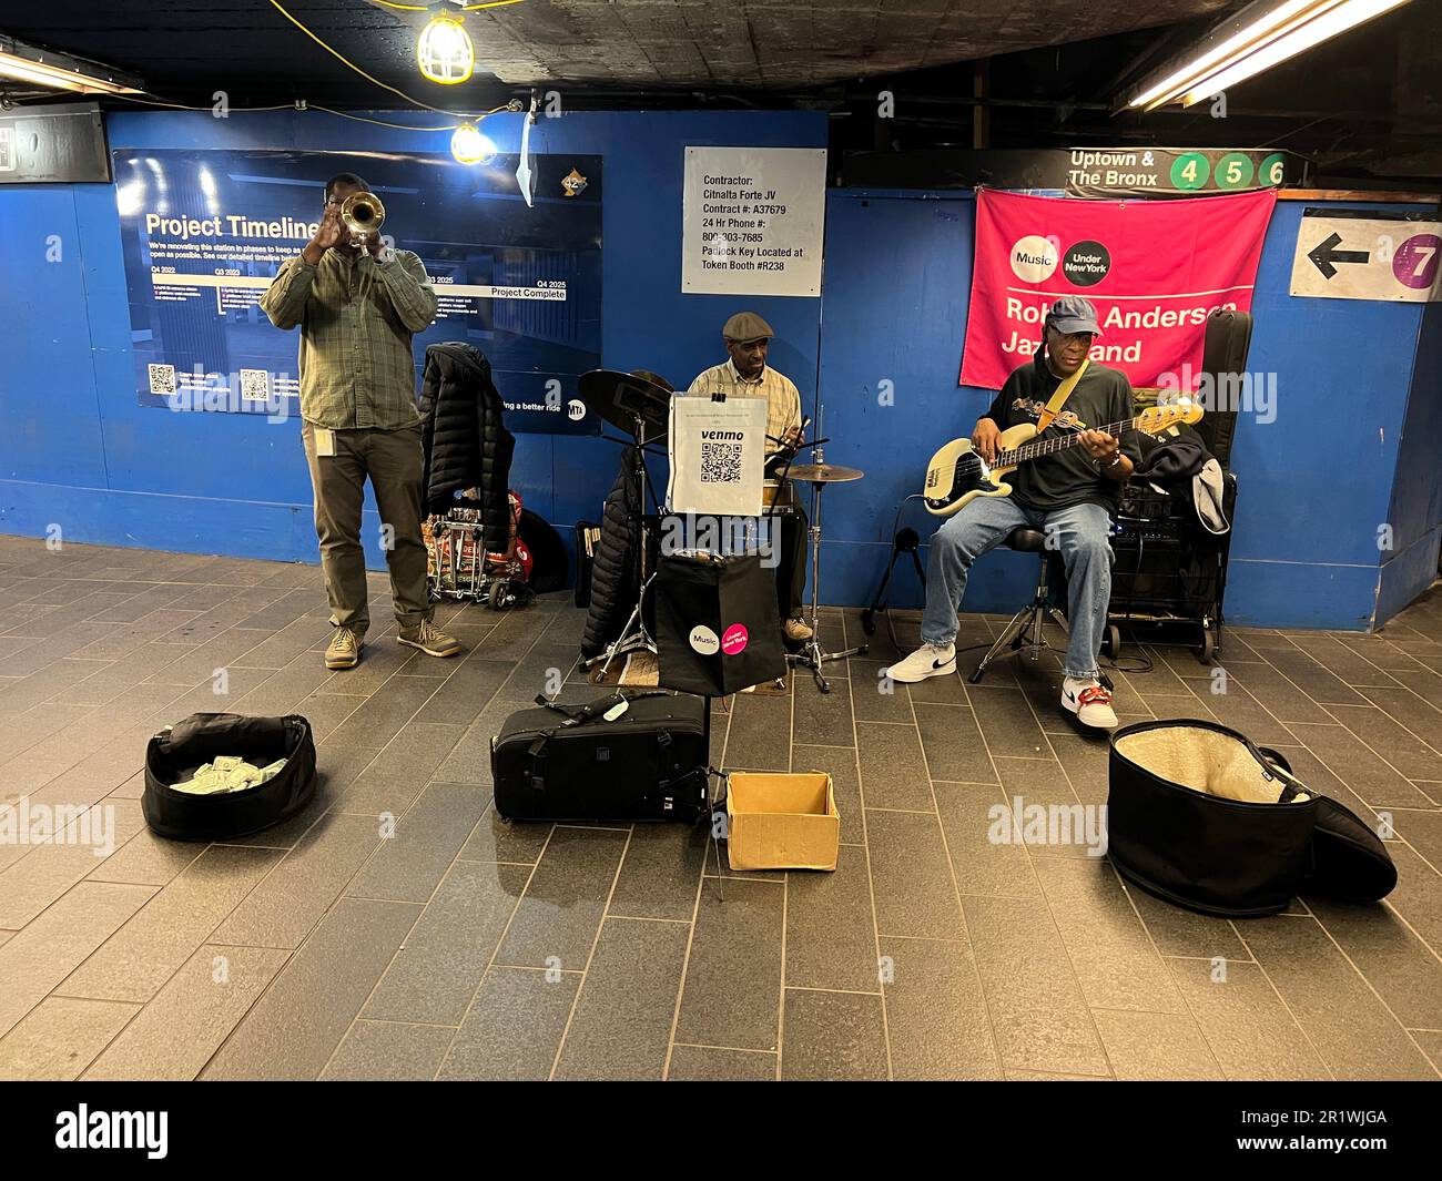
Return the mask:
{"type": "Polygon", "coordinates": [[[659,684],[727,696],[786,675],[776,571],[758,554],[668,554],[656,570],[659,684]]]}

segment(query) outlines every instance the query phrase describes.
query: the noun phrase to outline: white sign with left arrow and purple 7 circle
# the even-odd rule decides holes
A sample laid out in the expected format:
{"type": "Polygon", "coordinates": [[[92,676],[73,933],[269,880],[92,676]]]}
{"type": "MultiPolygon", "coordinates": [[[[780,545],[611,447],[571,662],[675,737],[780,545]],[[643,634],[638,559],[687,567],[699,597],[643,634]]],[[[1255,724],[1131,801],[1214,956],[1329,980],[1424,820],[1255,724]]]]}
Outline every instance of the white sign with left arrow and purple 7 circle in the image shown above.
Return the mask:
{"type": "Polygon", "coordinates": [[[1436,215],[1389,209],[1304,209],[1292,294],[1331,300],[1442,300],[1436,215]],[[1428,219],[1430,218],[1430,219],[1428,219]]]}

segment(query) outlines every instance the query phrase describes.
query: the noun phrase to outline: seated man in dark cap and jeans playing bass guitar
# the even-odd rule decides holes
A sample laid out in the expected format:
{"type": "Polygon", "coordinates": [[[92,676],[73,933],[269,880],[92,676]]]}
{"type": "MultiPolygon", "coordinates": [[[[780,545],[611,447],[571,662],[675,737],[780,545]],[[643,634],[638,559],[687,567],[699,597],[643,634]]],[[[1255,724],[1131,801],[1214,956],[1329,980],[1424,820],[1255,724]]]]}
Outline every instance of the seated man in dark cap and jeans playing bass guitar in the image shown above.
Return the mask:
{"type": "MultiPolygon", "coordinates": [[[[1030,421],[1014,402],[1045,404],[1079,369],[1082,373],[1064,407],[1082,424],[1118,423],[1135,414],[1126,375],[1087,359],[1092,342],[1100,335],[1090,300],[1080,296],[1057,300],[1047,311],[1043,332],[1035,359],[1007,378],[991,410],[976,423],[972,446],[988,464],[996,460],[1001,431],[1030,421]]],[[[1038,437],[1050,438],[1060,430],[1048,418],[1043,421],[1047,430],[1038,437]]],[[[921,647],[893,665],[887,675],[916,682],[956,672],[956,613],[972,562],[1005,541],[1012,529],[1031,526],[1054,536],[1050,544],[1060,551],[1067,571],[1071,634],[1063,665],[1061,705],[1083,725],[1115,728],[1112,695],[1097,681],[1096,656],[1112,597],[1107,538],[1120,487],[1138,459],[1135,435],[1126,435],[1123,443],[1103,431],[1084,430],[1080,447],[1021,464],[1008,477],[1014,486],[1011,496],[976,497],[949,518],[932,538],[921,647]]]]}

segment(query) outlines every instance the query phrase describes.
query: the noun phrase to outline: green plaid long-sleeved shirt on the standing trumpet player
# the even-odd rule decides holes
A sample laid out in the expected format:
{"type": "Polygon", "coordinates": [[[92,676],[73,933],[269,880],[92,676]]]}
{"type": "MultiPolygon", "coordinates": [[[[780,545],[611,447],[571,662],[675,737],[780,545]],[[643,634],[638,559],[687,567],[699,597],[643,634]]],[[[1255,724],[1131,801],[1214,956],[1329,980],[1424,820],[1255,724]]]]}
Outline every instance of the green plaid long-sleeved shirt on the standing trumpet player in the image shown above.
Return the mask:
{"type": "Polygon", "coordinates": [[[298,255],[261,296],[278,329],[300,326],[300,417],[317,427],[394,431],[420,421],[411,336],[435,319],[435,290],[420,258],[389,262],[327,249],[298,255]]]}

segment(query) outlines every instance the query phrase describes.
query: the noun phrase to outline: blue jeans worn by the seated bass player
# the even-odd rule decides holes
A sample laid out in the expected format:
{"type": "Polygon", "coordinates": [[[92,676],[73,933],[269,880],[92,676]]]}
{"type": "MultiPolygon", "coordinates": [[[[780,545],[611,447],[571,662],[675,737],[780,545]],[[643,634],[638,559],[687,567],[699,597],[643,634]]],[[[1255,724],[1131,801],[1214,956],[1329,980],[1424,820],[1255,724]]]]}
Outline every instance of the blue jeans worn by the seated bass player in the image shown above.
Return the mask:
{"type": "Polygon", "coordinates": [[[1112,598],[1112,515],[1100,505],[1071,505],[1040,512],[1009,496],[978,496],[932,536],[926,567],[926,610],[921,639],[946,646],[956,639],[956,611],[966,593],[972,562],[1007,539],[1012,529],[1030,525],[1053,534],[1067,571],[1067,623],[1070,643],[1063,669],[1067,676],[1096,676],[1096,653],[1112,598]]]}

